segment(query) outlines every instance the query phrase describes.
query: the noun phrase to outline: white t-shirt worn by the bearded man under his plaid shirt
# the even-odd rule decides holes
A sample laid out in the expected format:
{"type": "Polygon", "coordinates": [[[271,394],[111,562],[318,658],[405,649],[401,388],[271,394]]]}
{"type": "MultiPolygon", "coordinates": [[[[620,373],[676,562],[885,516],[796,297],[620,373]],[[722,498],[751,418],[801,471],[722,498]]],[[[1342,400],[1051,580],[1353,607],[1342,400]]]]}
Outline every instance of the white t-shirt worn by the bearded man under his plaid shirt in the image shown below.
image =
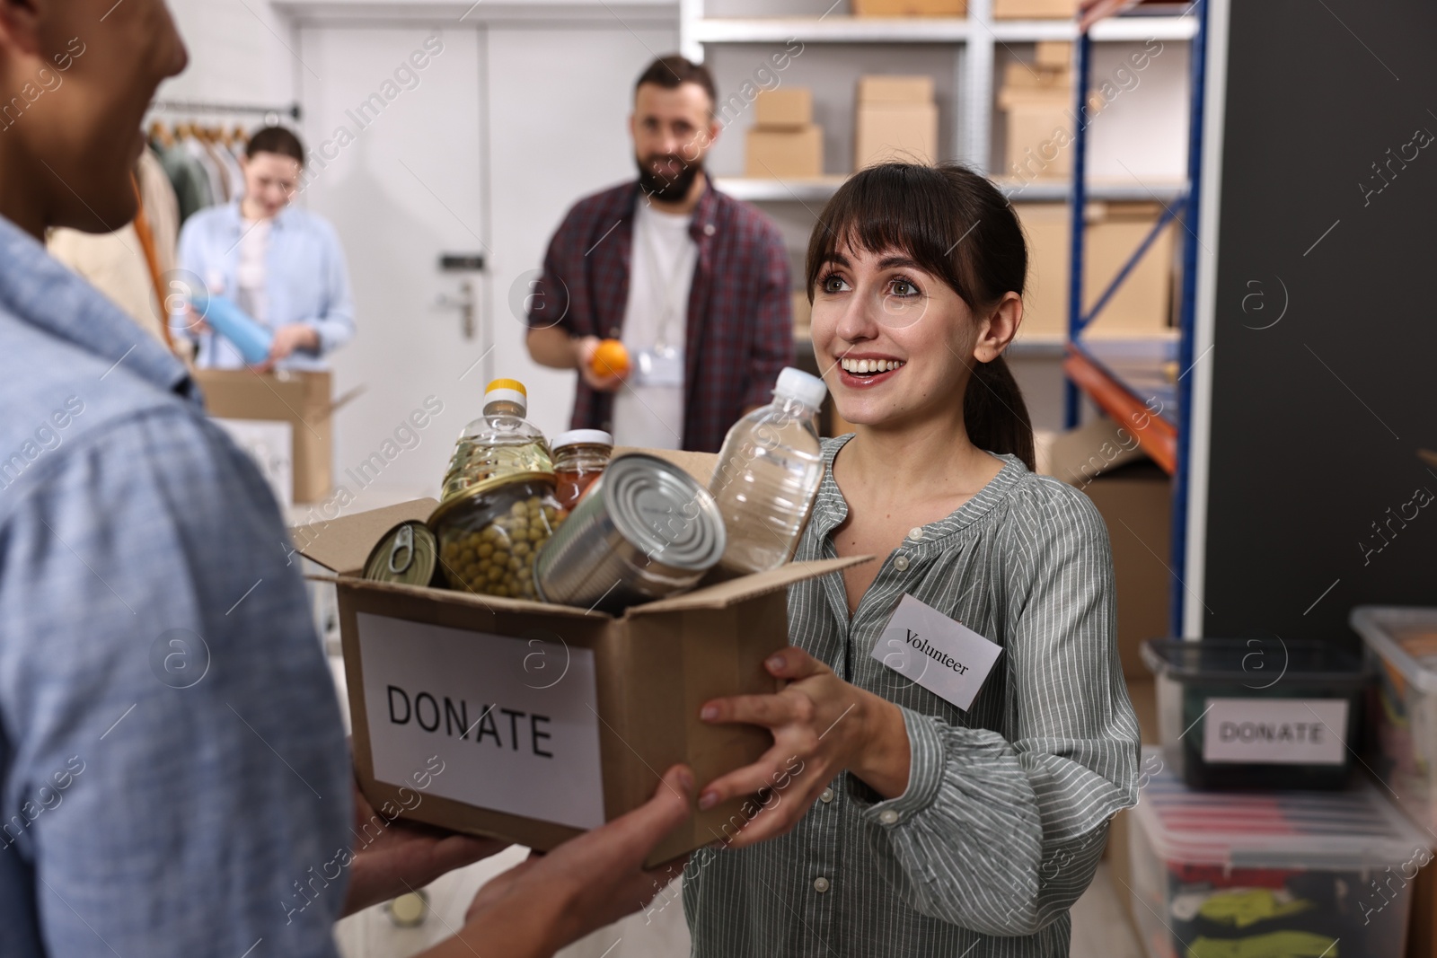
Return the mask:
{"type": "MultiPolygon", "coordinates": [[[[629,250],[629,294],[624,346],[629,358],[662,343],[684,350],[688,290],[698,244],[688,236],[690,214],[660,213],[639,197],[629,250]]],[[[634,376],[614,394],[615,445],[677,450],[684,441],[684,386],[639,386],[634,376]]]]}

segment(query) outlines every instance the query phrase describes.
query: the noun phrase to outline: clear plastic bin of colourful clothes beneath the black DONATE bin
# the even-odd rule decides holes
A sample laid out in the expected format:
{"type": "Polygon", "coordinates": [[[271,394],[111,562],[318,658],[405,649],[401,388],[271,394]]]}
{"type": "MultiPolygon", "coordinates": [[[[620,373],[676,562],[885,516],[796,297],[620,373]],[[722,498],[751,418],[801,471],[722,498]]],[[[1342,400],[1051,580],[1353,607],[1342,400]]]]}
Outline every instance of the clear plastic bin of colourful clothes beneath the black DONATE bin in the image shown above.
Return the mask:
{"type": "MultiPolygon", "coordinates": [[[[1157,748],[1144,768],[1161,766],[1157,748]]],[[[1213,793],[1173,770],[1134,810],[1131,911],[1150,958],[1401,958],[1431,852],[1365,777],[1344,791],[1213,793]]]]}

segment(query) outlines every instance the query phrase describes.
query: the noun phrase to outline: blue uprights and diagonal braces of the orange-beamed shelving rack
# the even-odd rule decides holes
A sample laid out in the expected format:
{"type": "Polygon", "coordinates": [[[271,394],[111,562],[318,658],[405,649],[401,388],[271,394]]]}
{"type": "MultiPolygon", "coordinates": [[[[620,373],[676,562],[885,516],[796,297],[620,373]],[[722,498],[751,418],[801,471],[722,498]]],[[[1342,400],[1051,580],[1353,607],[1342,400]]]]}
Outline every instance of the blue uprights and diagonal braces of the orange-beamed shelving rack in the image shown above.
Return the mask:
{"type": "MultiPolygon", "coordinates": [[[[1207,106],[1207,0],[1196,0],[1191,6],[1191,16],[1197,17],[1197,30],[1191,40],[1191,111],[1188,118],[1187,141],[1187,184],[1180,197],[1165,208],[1157,225],[1132,251],[1114,276],[1112,282],[1102,292],[1091,310],[1083,310],[1083,254],[1085,254],[1085,223],[1083,211],[1088,205],[1088,90],[1092,82],[1092,39],[1086,29],[1079,30],[1076,56],[1076,111],[1079,118],[1073,138],[1073,185],[1071,195],[1072,244],[1069,264],[1068,290],[1068,343],[1078,346],[1083,330],[1109,303],[1122,283],[1137,267],[1138,260],[1148,251],[1158,234],[1177,220],[1184,227],[1183,237],[1183,292],[1178,300],[1178,369],[1177,381],[1177,457],[1173,470],[1173,549],[1170,557],[1171,580],[1168,583],[1168,631],[1170,635],[1183,635],[1183,602],[1186,586],[1187,560],[1187,506],[1188,506],[1188,460],[1193,418],[1193,381],[1188,373],[1193,371],[1193,338],[1197,315],[1197,256],[1201,247],[1197,237],[1197,211],[1200,208],[1201,174],[1203,174],[1203,115],[1207,106]]],[[[1089,24],[1091,26],[1091,24],[1089,24]]],[[[1081,346],[1079,346],[1081,348],[1081,346]]],[[[1134,392],[1125,383],[1114,381],[1134,392]]],[[[1063,421],[1072,429],[1078,425],[1079,388],[1071,378],[1063,383],[1063,421]]]]}

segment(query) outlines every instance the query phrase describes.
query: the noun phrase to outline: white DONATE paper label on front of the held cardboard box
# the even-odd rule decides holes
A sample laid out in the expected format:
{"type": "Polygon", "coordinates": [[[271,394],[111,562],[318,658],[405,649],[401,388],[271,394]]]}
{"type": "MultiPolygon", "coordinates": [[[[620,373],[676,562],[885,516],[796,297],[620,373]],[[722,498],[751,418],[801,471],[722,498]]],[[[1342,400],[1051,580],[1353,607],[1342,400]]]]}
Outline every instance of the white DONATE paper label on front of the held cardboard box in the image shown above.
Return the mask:
{"type": "Polygon", "coordinates": [[[374,777],[404,784],[420,755],[430,794],[578,829],[604,824],[593,652],[361,612],[374,777]]]}

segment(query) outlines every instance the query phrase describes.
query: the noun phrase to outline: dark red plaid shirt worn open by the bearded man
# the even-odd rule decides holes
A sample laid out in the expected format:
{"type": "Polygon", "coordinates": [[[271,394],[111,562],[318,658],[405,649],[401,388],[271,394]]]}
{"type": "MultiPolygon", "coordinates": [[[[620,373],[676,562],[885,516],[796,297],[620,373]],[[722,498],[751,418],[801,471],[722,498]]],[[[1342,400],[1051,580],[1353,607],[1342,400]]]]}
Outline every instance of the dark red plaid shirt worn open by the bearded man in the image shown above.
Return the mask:
{"type": "MultiPolygon", "coordinates": [[[[638,197],[632,181],[569,210],[529,297],[532,327],[559,316],[570,336],[619,339],[638,197]]],[[[779,371],[793,365],[789,260],[773,221],[713,184],[688,233],[698,261],[684,345],[684,448],[717,452],[744,408],[767,404],[779,371]]],[[[570,428],[612,431],[612,411],[611,394],[579,379],[570,428]]]]}

